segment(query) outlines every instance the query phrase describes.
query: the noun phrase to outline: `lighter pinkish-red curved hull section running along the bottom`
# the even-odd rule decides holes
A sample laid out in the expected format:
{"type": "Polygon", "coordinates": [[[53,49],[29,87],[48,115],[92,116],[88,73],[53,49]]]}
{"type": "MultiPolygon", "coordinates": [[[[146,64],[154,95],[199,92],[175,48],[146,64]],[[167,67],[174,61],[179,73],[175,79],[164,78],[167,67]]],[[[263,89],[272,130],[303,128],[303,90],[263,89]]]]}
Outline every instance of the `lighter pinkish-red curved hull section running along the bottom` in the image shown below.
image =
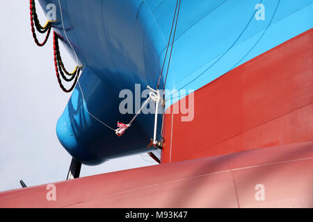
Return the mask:
{"type": "Polygon", "coordinates": [[[56,182],[56,201],[5,191],[0,207],[313,207],[312,166],[313,141],[56,182]]]}

